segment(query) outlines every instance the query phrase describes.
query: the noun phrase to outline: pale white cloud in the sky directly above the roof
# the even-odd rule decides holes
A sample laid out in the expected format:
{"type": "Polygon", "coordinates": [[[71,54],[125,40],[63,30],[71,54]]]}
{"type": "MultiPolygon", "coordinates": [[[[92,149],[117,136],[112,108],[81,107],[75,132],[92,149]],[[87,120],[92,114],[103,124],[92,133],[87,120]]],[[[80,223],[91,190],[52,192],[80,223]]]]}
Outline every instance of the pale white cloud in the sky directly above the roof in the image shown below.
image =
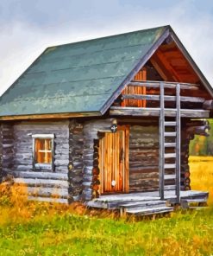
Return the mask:
{"type": "MultiPolygon", "coordinates": [[[[1,22],[0,29],[0,95],[48,46],[77,42],[104,35],[120,34],[171,24],[198,67],[213,84],[213,18],[209,13],[193,10],[193,1],[180,1],[173,6],[155,9],[124,1],[86,7],[82,19],[60,12],[58,24],[35,25],[27,20],[1,22]],[[110,6],[113,11],[110,12],[110,6]],[[193,16],[194,15],[194,16],[193,16]],[[88,16],[88,17],[87,17],[88,16]]],[[[80,14],[79,14],[80,15],[80,14]]],[[[53,18],[53,16],[51,16],[53,18]]],[[[51,23],[51,22],[50,22],[51,23]]]]}

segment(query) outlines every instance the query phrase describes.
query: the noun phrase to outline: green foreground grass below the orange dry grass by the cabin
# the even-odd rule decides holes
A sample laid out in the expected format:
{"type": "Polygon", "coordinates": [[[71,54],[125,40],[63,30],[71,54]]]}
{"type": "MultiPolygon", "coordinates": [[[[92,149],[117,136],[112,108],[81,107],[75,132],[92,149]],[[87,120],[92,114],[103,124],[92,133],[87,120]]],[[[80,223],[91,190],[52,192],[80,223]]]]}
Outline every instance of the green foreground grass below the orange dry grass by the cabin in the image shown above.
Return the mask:
{"type": "Polygon", "coordinates": [[[0,255],[210,255],[213,209],[155,221],[35,214],[0,227],[0,255]]]}

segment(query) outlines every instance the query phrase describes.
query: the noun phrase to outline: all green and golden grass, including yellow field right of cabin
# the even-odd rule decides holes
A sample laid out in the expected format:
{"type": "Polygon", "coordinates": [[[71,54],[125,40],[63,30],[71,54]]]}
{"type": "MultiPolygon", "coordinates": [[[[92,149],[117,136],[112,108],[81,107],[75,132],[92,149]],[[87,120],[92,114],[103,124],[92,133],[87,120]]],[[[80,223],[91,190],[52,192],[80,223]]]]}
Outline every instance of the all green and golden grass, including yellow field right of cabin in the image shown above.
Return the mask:
{"type": "MultiPolygon", "coordinates": [[[[192,189],[212,189],[212,158],[190,160],[192,189]]],[[[28,202],[24,190],[0,188],[0,255],[213,254],[213,208],[135,221],[77,203],[28,202]]]]}

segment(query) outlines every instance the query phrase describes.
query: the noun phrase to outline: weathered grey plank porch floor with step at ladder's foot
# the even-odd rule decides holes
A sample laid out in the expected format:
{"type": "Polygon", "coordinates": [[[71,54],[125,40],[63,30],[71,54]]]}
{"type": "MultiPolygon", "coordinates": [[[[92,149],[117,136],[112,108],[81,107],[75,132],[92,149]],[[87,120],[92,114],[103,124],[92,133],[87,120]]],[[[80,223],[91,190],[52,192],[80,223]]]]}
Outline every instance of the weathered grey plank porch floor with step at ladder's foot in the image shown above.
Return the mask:
{"type": "MultiPolygon", "coordinates": [[[[165,200],[160,200],[159,191],[138,192],[118,195],[101,195],[86,203],[87,207],[120,209],[128,214],[147,215],[167,213],[173,210],[172,202],[175,199],[175,191],[165,191],[165,200]]],[[[189,190],[181,191],[181,206],[190,208],[191,203],[206,203],[209,192],[189,190]]]]}

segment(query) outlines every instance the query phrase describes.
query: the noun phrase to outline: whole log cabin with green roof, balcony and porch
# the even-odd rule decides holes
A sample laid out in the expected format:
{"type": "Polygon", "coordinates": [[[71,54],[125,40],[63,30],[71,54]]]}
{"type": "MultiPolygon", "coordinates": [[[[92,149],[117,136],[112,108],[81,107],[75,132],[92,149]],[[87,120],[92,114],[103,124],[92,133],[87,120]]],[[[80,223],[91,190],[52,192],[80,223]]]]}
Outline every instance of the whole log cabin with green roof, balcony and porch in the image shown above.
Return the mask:
{"type": "Polygon", "coordinates": [[[0,98],[1,181],[128,214],[206,202],[188,157],[212,99],[170,26],[47,48],[0,98]]]}

